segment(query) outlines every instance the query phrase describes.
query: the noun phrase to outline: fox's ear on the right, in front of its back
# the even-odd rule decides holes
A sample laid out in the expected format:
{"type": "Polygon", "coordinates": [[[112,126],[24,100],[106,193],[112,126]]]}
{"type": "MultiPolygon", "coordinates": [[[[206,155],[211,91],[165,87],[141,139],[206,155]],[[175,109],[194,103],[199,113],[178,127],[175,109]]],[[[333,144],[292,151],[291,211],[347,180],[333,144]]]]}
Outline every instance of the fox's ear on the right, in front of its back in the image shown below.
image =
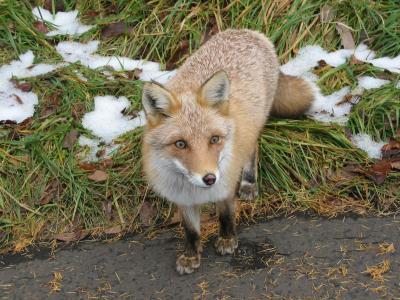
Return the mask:
{"type": "Polygon", "coordinates": [[[223,104],[229,99],[229,79],[225,71],[218,71],[201,87],[201,98],[211,106],[223,104]]]}

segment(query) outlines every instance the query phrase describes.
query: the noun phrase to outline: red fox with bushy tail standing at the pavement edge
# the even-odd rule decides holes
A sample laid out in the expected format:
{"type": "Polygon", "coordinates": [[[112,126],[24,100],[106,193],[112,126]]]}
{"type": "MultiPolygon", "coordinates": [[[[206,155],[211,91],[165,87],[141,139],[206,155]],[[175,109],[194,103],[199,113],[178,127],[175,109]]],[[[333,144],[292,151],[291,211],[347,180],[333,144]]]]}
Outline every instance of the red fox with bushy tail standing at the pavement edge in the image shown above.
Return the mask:
{"type": "Polygon", "coordinates": [[[301,115],[313,99],[306,81],[280,73],[274,46],[251,30],[214,35],[166,85],[144,85],[144,171],[181,211],[180,274],[200,266],[201,204],[216,203],[217,252],[238,247],[234,199],[237,191],[242,199],[258,195],[257,140],[268,116],[301,115]]]}

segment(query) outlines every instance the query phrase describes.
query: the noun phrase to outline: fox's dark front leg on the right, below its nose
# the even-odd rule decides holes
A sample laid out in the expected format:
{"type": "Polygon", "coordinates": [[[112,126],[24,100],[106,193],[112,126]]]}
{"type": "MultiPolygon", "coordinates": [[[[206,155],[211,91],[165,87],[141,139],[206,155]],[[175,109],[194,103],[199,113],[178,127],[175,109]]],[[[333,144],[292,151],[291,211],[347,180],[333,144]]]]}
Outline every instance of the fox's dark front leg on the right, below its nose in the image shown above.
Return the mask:
{"type": "Polygon", "coordinates": [[[215,249],[221,255],[232,254],[238,247],[235,223],[235,199],[217,202],[219,237],[215,249]]]}

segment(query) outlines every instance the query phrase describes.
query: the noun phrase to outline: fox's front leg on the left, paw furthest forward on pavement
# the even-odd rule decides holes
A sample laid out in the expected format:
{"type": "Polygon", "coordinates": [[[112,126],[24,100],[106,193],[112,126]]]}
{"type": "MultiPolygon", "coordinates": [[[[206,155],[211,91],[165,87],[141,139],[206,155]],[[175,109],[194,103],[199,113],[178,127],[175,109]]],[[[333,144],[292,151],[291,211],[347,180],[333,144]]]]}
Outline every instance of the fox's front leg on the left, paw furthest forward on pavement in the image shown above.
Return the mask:
{"type": "Polygon", "coordinates": [[[185,230],[185,251],[176,260],[176,270],[183,275],[200,267],[200,207],[182,206],[180,210],[185,230]]]}

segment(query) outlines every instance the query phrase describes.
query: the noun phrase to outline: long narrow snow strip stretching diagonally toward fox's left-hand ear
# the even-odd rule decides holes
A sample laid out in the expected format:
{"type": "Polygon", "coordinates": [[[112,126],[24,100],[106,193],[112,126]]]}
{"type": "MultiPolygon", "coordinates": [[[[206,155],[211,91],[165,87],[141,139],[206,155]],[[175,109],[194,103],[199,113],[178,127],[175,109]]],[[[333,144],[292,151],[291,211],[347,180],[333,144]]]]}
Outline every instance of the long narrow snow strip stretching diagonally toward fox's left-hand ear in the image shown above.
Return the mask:
{"type": "Polygon", "coordinates": [[[80,62],[82,65],[97,69],[101,67],[111,67],[116,71],[134,70],[139,68],[142,70],[140,79],[144,81],[155,80],[165,83],[175,73],[174,71],[160,71],[160,64],[145,60],[135,60],[123,56],[102,56],[94,54],[99,46],[99,41],[90,41],[87,44],[78,42],[60,42],[56,50],[70,63],[80,62]]]}

